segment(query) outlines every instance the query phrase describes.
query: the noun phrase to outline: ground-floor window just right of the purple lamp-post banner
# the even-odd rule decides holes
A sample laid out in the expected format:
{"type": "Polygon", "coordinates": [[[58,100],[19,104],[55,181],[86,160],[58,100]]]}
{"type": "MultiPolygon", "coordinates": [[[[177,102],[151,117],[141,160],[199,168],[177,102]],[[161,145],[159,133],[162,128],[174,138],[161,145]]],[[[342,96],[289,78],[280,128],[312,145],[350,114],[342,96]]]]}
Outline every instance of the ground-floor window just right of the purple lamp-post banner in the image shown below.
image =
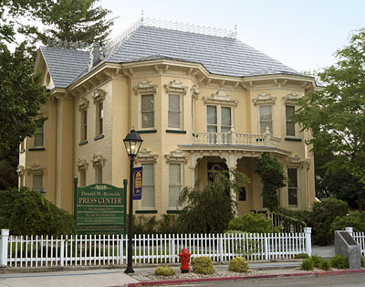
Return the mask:
{"type": "Polygon", "coordinates": [[[154,164],[143,164],[141,207],[154,208],[154,164]]]}

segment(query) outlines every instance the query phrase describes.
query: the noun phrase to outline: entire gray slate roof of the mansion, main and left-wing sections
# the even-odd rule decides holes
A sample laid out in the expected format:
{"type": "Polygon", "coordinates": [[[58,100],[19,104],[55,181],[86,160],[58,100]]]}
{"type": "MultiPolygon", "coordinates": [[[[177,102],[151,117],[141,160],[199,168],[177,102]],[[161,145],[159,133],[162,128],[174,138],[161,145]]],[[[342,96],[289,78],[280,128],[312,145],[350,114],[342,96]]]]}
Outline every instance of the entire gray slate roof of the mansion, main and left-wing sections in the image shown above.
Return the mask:
{"type": "MultiPolygon", "coordinates": [[[[67,88],[88,68],[88,51],[51,47],[41,50],[57,88],[67,88]]],[[[201,63],[212,74],[225,76],[300,75],[235,38],[147,26],[134,30],[103,61],[126,63],[158,58],[201,63]]]]}

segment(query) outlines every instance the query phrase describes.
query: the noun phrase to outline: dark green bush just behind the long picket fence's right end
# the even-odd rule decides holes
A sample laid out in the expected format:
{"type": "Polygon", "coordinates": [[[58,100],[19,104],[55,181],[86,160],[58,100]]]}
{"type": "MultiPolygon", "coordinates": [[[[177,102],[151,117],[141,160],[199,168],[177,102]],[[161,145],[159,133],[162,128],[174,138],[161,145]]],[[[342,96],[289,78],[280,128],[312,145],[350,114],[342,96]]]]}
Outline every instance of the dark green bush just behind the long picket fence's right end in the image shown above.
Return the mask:
{"type": "Polygon", "coordinates": [[[332,221],[348,212],[348,204],[339,199],[326,198],[314,203],[309,224],[312,227],[312,243],[322,246],[331,243],[334,239],[330,233],[332,221]]]}

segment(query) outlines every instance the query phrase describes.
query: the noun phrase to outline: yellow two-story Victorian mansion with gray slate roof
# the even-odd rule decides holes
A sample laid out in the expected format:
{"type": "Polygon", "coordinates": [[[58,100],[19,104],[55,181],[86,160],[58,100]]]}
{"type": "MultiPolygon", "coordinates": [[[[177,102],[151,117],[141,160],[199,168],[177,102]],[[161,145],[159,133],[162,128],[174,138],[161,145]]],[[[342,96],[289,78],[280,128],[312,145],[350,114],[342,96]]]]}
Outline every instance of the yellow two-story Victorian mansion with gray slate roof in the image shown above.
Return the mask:
{"type": "Polygon", "coordinates": [[[50,42],[36,72],[50,100],[43,128],[20,147],[19,186],[73,211],[79,186],[122,186],[129,178],[123,139],[134,127],[143,143],[137,214],[177,212],[183,186],[203,183],[214,165],[251,178],[236,197],[238,214],[263,211],[258,157],[281,160],[290,186],[282,207],[315,199],[313,155],[292,116],[316,81],[235,38],[235,32],[141,19],[107,48],[50,42]]]}

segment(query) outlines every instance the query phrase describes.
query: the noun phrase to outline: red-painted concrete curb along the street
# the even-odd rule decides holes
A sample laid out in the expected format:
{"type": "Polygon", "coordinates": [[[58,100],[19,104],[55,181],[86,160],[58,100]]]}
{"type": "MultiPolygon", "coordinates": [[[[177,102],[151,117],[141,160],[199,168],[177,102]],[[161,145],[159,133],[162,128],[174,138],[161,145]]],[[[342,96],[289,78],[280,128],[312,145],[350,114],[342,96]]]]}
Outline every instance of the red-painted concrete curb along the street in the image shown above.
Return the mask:
{"type": "Polygon", "coordinates": [[[127,285],[118,285],[112,287],[139,287],[139,286],[156,286],[166,284],[183,284],[183,283],[196,283],[196,282],[225,282],[225,281],[242,281],[250,279],[266,279],[266,278],[278,278],[278,277],[300,277],[300,276],[328,276],[338,274],[350,274],[350,273],[365,273],[365,269],[355,270],[339,270],[339,271],[321,271],[321,272],[303,272],[303,273],[289,273],[289,274],[264,274],[264,275],[251,275],[251,276],[237,276],[237,277],[219,277],[219,278],[197,278],[197,279],[177,279],[177,280],[162,280],[162,281],[146,281],[138,283],[130,283],[127,285]]]}

